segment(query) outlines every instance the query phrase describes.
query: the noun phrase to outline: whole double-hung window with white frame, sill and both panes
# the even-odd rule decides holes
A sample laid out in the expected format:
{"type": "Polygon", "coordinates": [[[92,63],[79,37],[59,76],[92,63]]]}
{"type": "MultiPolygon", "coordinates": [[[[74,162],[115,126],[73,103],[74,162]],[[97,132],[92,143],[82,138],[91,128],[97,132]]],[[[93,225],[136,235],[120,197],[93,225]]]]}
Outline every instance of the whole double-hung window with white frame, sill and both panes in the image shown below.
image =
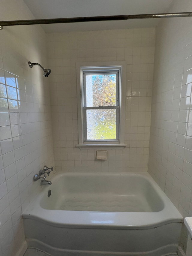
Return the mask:
{"type": "Polygon", "coordinates": [[[77,63],[78,147],[125,147],[125,62],[77,63]]]}

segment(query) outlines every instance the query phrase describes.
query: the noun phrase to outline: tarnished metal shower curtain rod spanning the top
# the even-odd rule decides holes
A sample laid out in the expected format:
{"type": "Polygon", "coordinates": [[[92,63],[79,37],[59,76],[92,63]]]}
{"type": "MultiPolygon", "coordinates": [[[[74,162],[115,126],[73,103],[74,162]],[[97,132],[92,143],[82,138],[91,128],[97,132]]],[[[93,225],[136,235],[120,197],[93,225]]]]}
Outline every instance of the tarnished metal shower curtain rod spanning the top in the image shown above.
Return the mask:
{"type": "Polygon", "coordinates": [[[53,23],[75,23],[75,22],[105,21],[105,20],[174,18],[174,17],[192,17],[192,12],[95,16],[95,17],[76,17],[76,18],[40,19],[40,20],[10,20],[10,21],[0,21],[0,30],[3,29],[3,26],[53,24],[53,23]]]}

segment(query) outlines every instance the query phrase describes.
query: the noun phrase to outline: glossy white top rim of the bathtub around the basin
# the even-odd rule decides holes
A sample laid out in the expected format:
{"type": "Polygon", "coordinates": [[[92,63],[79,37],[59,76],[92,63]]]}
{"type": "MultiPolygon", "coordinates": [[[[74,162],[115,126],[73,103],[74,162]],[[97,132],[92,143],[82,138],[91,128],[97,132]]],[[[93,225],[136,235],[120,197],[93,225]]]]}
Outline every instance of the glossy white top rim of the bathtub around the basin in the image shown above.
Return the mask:
{"type": "Polygon", "coordinates": [[[147,179],[157,192],[164,203],[164,208],[159,212],[95,212],[95,211],[68,211],[68,210],[50,210],[40,206],[41,198],[47,193],[51,186],[42,186],[42,190],[35,196],[29,206],[22,213],[22,217],[27,219],[37,219],[38,221],[49,223],[51,226],[70,227],[70,228],[101,228],[101,229],[150,229],[169,223],[183,222],[183,217],[170,201],[170,199],[161,190],[158,184],[148,172],[129,172],[129,173],[99,173],[99,172],[55,172],[50,179],[52,183],[61,176],[142,176],[147,179]],[[39,202],[39,203],[37,203],[39,202]],[[90,214],[95,215],[95,221],[89,220],[90,214]],[[111,223],[101,223],[101,215],[106,214],[111,223]],[[78,223],[77,220],[78,219],[78,223]]]}

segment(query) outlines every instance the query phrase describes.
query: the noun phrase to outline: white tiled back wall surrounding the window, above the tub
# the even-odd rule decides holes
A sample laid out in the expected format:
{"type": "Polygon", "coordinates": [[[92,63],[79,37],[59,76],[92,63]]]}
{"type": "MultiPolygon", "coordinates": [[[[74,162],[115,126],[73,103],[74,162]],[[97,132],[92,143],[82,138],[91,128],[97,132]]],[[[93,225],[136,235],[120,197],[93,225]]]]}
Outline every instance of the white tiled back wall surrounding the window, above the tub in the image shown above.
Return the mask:
{"type": "Polygon", "coordinates": [[[155,29],[122,29],[47,35],[54,157],[57,171],[147,171],[155,29]],[[76,62],[127,61],[125,149],[79,149],[76,62]]]}

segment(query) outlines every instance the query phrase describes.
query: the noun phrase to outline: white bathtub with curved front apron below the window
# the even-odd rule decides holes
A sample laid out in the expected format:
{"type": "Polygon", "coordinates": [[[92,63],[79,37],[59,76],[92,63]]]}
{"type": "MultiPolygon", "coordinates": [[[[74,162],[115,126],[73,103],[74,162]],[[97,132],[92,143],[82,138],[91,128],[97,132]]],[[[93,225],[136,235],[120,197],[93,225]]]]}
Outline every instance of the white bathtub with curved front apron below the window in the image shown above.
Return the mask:
{"type": "Polygon", "coordinates": [[[51,181],[22,214],[28,247],[54,256],[176,254],[183,219],[149,173],[51,181]]]}

